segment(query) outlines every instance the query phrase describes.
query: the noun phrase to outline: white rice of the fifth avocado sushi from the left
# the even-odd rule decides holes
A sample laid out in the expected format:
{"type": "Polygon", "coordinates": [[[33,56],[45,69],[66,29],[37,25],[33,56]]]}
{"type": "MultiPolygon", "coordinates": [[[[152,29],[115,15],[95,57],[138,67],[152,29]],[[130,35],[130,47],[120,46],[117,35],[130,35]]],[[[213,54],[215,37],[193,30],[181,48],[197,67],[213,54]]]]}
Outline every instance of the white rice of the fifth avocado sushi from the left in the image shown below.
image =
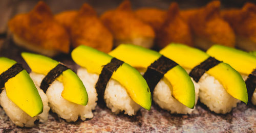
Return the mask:
{"type": "Polygon", "coordinates": [[[240,102],[240,100],[229,95],[215,77],[207,73],[204,73],[198,83],[200,85],[200,101],[215,113],[226,114],[240,102]]]}

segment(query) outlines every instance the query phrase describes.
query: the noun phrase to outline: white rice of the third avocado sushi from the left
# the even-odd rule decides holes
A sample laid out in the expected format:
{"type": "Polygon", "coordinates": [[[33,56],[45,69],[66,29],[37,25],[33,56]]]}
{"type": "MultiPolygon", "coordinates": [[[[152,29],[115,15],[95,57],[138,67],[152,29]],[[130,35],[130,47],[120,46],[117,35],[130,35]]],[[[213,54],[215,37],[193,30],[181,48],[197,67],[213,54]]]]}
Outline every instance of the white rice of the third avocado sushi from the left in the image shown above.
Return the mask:
{"type": "MultiPolygon", "coordinates": [[[[92,89],[96,92],[95,85],[98,81],[98,74],[89,73],[85,68],[79,68],[77,75],[86,88],[90,88],[90,90],[92,89]]],[[[106,85],[104,100],[106,106],[115,114],[124,111],[124,114],[132,116],[141,108],[140,105],[134,102],[127,94],[126,89],[112,78],[108,85],[106,85]]]]}

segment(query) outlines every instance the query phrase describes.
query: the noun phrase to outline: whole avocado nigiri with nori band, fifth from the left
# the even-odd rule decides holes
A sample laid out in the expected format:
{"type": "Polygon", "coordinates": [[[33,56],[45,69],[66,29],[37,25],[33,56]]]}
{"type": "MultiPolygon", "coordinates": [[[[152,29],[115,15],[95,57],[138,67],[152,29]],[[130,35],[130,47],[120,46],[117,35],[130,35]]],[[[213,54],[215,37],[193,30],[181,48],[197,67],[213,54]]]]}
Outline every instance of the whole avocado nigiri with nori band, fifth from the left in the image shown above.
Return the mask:
{"type": "Polygon", "coordinates": [[[200,85],[199,99],[211,111],[226,114],[248,95],[241,75],[205,52],[182,44],[169,44],[160,54],[190,69],[189,75],[200,85]]]}

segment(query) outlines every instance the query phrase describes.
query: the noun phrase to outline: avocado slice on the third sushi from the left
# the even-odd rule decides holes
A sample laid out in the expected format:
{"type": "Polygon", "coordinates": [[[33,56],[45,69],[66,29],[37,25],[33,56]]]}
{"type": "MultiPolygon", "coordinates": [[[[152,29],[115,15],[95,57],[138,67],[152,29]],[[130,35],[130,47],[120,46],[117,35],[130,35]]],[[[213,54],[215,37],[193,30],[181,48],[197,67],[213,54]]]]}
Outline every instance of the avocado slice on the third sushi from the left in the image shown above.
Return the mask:
{"type": "MultiPolygon", "coordinates": [[[[80,45],[71,52],[72,59],[90,73],[100,74],[112,56],[92,47],[80,45]]],[[[125,87],[129,96],[146,110],[151,108],[151,93],[142,75],[129,64],[123,63],[112,74],[112,78],[125,87]]]]}

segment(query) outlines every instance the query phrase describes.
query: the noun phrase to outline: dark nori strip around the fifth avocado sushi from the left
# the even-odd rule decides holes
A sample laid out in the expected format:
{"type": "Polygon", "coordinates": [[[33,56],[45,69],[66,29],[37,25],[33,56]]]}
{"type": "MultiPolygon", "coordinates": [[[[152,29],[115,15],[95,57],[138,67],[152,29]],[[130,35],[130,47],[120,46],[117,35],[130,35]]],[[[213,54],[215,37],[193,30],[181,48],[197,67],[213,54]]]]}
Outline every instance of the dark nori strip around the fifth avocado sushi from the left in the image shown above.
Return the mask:
{"type": "Polygon", "coordinates": [[[216,65],[218,65],[219,63],[221,63],[221,61],[213,58],[213,57],[209,57],[207,58],[205,61],[203,61],[200,65],[194,67],[190,73],[189,76],[193,77],[195,82],[199,82],[199,79],[201,78],[201,76],[208,71],[210,68],[215,67],[216,65]]]}

